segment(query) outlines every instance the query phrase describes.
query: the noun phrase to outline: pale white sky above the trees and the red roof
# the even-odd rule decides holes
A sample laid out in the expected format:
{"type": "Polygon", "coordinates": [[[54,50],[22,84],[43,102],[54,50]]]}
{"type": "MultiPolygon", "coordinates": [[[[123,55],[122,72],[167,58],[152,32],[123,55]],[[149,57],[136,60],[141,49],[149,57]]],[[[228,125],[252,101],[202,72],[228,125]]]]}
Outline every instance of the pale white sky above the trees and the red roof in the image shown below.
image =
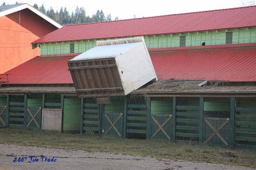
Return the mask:
{"type": "Polygon", "coordinates": [[[48,9],[60,10],[61,6],[68,11],[74,11],[76,6],[84,7],[86,15],[92,16],[97,10],[103,10],[105,15],[111,14],[112,18],[119,19],[152,17],[157,15],[169,15],[174,13],[187,13],[193,11],[218,10],[223,8],[236,8],[242,5],[242,1],[252,0],[0,0],[0,4],[29,3],[31,5],[44,4],[48,9]]]}

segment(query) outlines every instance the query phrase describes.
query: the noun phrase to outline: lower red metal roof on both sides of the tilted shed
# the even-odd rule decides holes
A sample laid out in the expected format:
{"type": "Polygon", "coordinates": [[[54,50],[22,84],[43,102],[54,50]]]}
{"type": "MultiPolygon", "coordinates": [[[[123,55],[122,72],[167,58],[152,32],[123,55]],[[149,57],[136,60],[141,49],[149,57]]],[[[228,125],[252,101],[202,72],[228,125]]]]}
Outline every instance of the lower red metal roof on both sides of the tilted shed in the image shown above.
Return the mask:
{"type": "MultiPolygon", "coordinates": [[[[163,48],[149,53],[159,80],[256,81],[255,43],[163,48]]],[[[79,54],[35,57],[8,71],[9,83],[72,84],[67,62],[79,54]]]]}

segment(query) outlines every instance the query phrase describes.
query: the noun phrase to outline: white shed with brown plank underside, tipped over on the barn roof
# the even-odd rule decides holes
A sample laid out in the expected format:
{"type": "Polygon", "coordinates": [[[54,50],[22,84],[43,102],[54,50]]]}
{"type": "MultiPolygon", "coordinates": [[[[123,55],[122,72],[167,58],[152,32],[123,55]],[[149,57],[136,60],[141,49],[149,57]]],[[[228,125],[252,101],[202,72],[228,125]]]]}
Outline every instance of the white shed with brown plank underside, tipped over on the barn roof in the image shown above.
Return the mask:
{"type": "Polygon", "coordinates": [[[125,96],[157,80],[143,37],[97,41],[68,66],[79,97],[125,96]]]}

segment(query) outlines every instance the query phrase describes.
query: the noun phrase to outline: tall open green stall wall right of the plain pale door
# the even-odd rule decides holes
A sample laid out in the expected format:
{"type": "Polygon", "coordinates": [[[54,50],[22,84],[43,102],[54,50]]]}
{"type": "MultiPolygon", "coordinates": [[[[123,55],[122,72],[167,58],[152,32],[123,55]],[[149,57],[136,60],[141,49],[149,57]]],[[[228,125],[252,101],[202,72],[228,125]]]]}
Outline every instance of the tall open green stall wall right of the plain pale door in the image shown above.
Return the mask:
{"type": "Polygon", "coordinates": [[[81,99],[64,97],[63,131],[79,131],[81,115],[81,99]]]}

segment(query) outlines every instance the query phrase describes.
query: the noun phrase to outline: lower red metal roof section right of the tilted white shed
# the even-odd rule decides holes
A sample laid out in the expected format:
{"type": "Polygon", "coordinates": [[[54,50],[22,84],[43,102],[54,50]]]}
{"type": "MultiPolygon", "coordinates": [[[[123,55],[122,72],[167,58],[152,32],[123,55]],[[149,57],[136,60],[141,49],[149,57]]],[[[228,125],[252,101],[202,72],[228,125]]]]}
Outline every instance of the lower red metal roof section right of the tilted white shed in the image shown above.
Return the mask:
{"type": "Polygon", "coordinates": [[[256,81],[256,44],[200,48],[151,50],[159,80],[256,81]]]}

